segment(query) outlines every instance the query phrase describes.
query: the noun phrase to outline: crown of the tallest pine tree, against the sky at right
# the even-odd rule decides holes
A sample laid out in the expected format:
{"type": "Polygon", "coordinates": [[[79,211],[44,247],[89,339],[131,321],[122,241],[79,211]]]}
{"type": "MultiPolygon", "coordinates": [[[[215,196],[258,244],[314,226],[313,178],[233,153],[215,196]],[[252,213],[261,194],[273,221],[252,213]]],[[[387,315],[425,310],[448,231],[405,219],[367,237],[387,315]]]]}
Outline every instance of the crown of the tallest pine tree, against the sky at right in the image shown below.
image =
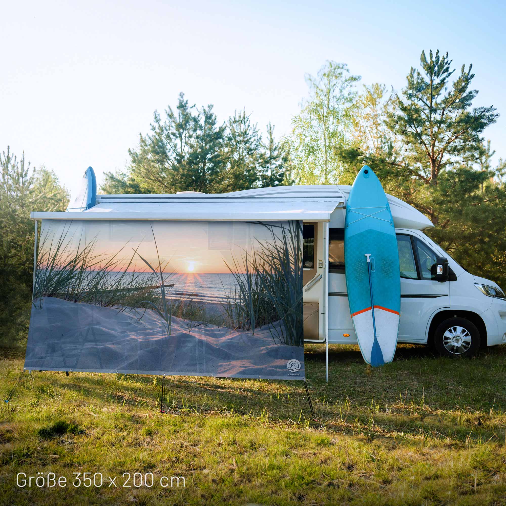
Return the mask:
{"type": "Polygon", "coordinates": [[[493,106],[470,110],[477,90],[470,89],[473,65],[462,65],[450,85],[452,60],[421,52],[422,72],[411,67],[404,100],[398,98],[398,112],[390,116],[390,127],[409,151],[408,174],[436,186],[438,176],[455,160],[481,143],[485,128],[497,120],[493,106]]]}

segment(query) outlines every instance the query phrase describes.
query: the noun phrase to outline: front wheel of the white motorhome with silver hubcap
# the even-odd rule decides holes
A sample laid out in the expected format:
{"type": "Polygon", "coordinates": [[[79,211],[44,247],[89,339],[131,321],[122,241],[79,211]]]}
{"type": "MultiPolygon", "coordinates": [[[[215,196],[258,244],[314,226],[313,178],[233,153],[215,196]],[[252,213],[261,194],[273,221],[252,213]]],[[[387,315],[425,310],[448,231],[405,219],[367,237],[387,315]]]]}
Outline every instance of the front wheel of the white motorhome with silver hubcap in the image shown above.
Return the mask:
{"type": "Polygon", "coordinates": [[[480,348],[480,331],[466,318],[448,318],[436,328],[434,346],[446,357],[470,357],[480,348]]]}

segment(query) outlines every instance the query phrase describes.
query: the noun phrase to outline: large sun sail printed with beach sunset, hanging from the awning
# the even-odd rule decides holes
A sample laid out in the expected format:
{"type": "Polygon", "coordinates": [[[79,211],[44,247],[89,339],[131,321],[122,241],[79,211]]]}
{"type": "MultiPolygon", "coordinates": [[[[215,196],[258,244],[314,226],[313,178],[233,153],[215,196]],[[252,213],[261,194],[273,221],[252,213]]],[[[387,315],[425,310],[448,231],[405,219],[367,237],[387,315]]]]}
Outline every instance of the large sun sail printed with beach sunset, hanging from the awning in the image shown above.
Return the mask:
{"type": "Polygon", "coordinates": [[[302,224],[43,220],[25,368],[304,379],[302,224]]]}

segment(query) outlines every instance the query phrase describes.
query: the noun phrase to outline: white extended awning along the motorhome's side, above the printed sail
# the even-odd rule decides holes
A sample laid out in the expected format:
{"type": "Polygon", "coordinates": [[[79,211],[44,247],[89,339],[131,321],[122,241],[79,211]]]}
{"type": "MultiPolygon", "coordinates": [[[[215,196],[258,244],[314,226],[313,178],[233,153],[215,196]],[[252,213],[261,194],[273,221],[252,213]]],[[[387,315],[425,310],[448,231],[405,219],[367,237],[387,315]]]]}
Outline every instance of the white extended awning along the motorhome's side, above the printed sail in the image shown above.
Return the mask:
{"type": "Polygon", "coordinates": [[[32,212],[34,220],[199,220],[199,221],[330,221],[335,199],[174,199],[171,202],[100,202],[80,213],[32,212]]]}

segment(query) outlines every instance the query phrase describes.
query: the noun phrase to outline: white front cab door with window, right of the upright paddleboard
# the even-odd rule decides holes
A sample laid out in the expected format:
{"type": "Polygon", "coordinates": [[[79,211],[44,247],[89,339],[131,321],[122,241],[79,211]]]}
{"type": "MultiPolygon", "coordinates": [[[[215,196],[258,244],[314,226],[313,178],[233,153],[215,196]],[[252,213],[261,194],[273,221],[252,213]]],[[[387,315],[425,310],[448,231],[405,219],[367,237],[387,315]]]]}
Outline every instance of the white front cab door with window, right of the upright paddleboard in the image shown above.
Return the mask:
{"type": "Polygon", "coordinates": [[[423,240],[397,233],[397,246],[401,271],[399,341],[425,343],[431,316],[450,307],[450,282],[434,279],[431,268],[438,255],[423,240]]]}

